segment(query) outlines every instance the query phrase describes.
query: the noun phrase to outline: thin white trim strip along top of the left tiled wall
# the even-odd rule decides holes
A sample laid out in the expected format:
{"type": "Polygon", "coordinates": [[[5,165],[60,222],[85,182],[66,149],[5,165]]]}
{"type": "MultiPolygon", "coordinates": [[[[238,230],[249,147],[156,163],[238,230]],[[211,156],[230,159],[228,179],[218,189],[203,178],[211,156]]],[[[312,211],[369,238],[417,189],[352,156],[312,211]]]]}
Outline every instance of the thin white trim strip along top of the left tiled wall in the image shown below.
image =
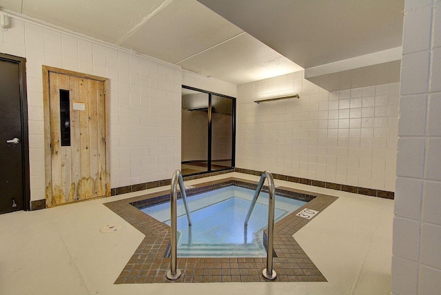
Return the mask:
{"type": "Polygon", "coordinates": [[[114,43],[110,43],[110,42],[107,42],[107,41],[96,39],[94,37],[90,37],[88,35],[81,34],[79,32],[74,32],[74,31],[68,30],[66,28],[55,26],[52,23],[47,23],[45,21],[41,21],[40,19],[34,19],[33,17],[29,17],[28,15],[25,15],[25,14],[19,14],[18,12],[14,12],[14,11],[11,11],[11,10],[8,10],[8,9],[4,9],[4,8],[0,8],[0,11],[5,12],[6,15],[8,15],[8,17],[12,17],[14,19],[19,19],[20,21],[25,21],[27,23],[33,23],[34,25],[41,26],[43,28],[54,30],[54,31],[60,32],[62,34],[67,34],[70,37],[82,39],[84,41],[94,42],[94,43],[97,43],[99,45],[106,46],[108,48],[113,48],[115,50],[120,50],[122,52],[133,54],[136,57],[142,57],[143,59],[148,59],[150,61],[154,61],[156,63],[160,63],[161,65],[166,65],[167,67],[175,68],[176,70],[182,70],[181,65],[176,65],[174,63],[170,63],[169,61],[163,61],[162,59],[157,59],[156,57],[150,57],[150,55],[142,54],[140,52],[136,52],[136,51],[133,51],[133,50],[129,50],[127,48],[123,48],[122,46],[116,45],[114,43]]]}

